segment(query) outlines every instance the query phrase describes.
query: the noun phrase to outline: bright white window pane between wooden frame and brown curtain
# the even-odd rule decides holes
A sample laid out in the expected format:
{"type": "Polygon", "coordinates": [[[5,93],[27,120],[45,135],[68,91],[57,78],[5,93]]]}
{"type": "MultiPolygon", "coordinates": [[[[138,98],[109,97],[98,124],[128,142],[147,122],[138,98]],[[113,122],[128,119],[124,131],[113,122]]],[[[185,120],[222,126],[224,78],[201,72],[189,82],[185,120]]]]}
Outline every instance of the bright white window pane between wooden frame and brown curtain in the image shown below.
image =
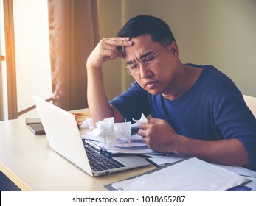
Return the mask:
{"type": "Polygon", "coordinates": [[[47,0],[13,0],[18,112],[52,97],[47,0]]]}

